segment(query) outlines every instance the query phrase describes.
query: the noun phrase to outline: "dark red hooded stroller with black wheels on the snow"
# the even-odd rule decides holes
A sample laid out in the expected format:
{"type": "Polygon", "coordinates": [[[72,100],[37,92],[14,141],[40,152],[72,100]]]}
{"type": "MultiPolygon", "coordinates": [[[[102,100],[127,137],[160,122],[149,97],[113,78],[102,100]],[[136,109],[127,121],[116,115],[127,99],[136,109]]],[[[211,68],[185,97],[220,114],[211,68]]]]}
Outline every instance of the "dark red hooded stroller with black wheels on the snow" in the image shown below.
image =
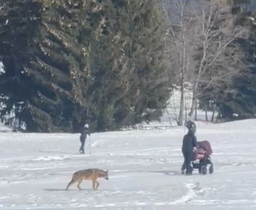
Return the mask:
{"type": "Polygon", "coordinates": [[[203,140],[197,143],[196,149],[193,151],[194,158],[193,158],[193,168],[198,169],[200,174],[206,175],[207,174],[207,165],[209,167],[209,173],[213,173],[213,162],[210,158],[210,155],[213,154],[213,150],[210,146],[208,140],[203,140]]]}

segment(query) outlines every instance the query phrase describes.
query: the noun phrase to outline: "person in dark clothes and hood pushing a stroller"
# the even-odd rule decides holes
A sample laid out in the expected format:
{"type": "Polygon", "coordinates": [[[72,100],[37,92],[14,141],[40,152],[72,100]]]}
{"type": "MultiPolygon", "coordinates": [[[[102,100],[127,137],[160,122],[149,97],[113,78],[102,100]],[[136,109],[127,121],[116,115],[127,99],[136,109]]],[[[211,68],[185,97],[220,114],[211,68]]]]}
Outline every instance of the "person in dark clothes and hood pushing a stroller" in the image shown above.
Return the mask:
{"type": "Polygon", "coordinates": [[[193,172],[193,148],[196,148],[197,139],[196,139],[196,124],[193,121],[188,121],[186,123],[188,128],[188,133],[183,137],[182,143],[182,153],[184,157],[184,162],[181,167],[181,173],[186,175],[192,175],[193,172]]]}

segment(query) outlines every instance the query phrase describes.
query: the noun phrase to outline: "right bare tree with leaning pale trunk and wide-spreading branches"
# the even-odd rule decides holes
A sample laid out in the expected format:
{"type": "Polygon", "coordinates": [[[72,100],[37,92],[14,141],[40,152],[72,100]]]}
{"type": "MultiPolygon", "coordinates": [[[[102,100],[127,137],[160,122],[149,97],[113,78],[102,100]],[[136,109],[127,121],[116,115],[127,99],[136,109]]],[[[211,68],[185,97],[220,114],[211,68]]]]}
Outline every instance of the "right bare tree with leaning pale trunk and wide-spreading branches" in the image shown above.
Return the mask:
{"type": "Polygon", "coordinates": [[[235,26],[230,7],[223,0],[200,0],[197,7],[193,44],[201,55],[193,74],[193,99],[188,116],[193,116],[201,83],[217,87],[240,74],[242,62],[235,40],[246,34],[246,28],[235,26]]]}

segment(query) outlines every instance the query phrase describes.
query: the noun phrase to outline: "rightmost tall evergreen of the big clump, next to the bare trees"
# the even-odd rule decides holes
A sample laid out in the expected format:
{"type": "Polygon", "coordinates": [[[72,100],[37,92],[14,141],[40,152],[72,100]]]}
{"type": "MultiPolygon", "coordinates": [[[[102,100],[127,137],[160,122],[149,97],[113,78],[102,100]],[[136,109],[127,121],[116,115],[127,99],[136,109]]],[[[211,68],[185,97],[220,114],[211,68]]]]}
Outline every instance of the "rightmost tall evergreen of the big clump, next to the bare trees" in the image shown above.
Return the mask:
{"type": "Polygon", "coordinates": [[[134,121],[156,120],[169,99],[171,92],[166,67],[166,27],[161,18],[160,10],[156,1],[129,1],[123,11],[121,28],[129,39],[127,52],[129,63],[134,67],[132,72],[132,108],[134,109],[134,121]],[[136,42],[135,42],[136,40],[136,42]]]}

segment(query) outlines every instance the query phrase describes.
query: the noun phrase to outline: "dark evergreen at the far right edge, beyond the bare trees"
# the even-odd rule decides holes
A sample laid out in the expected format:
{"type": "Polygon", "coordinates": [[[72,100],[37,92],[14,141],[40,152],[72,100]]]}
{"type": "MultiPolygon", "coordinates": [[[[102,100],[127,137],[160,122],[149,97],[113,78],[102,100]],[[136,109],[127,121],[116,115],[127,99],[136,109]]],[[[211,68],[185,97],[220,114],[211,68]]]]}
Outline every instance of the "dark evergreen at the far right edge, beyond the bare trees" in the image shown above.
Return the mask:
{"type": "Polygon", "coordinates": [[[233,118],[237,114],[239,118],[250,118],[256,114],[256,31],[255,31],[255,2],[235,1],[231,3],[236,23],[248,27],[250,35],[248,38],[238,40],[245,57],[245,64],[249,66],[242,77],[234,80],[233,92],[223,95],[220,101],[221,114],[223,118],[233,118]]]}

